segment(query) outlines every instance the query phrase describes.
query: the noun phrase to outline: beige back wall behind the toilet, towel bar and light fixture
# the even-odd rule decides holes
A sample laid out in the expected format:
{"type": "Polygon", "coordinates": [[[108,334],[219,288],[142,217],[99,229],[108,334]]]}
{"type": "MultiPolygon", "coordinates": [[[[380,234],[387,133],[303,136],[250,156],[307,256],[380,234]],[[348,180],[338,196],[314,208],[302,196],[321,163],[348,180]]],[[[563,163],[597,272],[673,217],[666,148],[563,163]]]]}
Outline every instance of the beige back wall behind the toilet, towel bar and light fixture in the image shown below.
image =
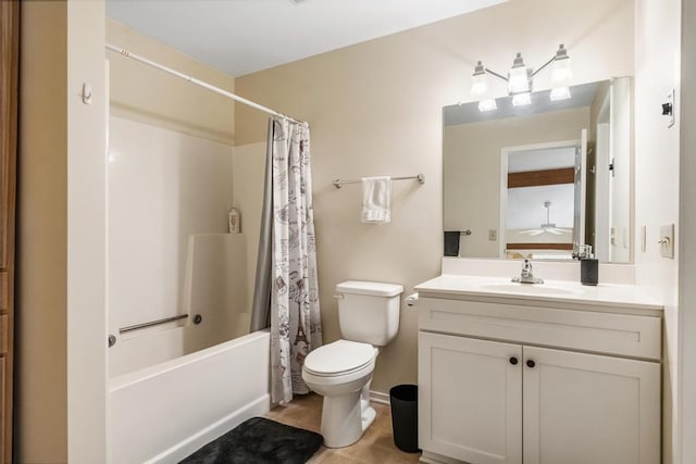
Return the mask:
{"type": "MultiPolygon", "coordinates": [[[[442,108],[468,101],[475,60],[505,72],[518,51],[538,66],[566,43],[579,84],[633,74],[633,1],[511,0],[469,15],[239,77],[236,92],[312,126],[324,336],[339,337],[334,286],[413,285],[439,273],[442,108]],[[572,13],[572,14],[571,14],[572,13]],[[360,189],[331,180],[425,174],[394,186],[391,223],[359,221],[360,189]]],[[[548,88],[540,73],[535,88],[548,88]]],[[[500,95],[504,93],[499,88],[500,95]]],[[[265,139],[268,115],[237,105],[236,143],[265,139]]],[[[417,380],[417,314],[377,360],[373,389],[417,380]]]]}

